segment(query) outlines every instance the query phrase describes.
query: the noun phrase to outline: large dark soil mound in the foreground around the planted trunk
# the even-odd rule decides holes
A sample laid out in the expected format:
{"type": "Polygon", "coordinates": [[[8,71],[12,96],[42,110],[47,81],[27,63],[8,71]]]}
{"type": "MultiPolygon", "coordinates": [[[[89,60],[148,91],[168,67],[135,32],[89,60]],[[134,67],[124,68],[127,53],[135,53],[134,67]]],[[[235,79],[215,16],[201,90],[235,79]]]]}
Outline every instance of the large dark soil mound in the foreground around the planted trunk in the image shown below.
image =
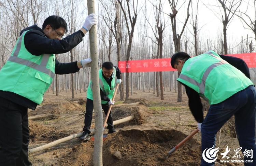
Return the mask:
{"type": "MultiPolygon", "coordinates": [[[[186,135],[176,130],[128,129],[108,135],[103,142],[104,166],[198,166],[200,144],[193,138],[175,151],[166,154],[186,135]]],[[[76,146],[61,159],[62,165],[93,166],[93,142],[76,146]]]]}

